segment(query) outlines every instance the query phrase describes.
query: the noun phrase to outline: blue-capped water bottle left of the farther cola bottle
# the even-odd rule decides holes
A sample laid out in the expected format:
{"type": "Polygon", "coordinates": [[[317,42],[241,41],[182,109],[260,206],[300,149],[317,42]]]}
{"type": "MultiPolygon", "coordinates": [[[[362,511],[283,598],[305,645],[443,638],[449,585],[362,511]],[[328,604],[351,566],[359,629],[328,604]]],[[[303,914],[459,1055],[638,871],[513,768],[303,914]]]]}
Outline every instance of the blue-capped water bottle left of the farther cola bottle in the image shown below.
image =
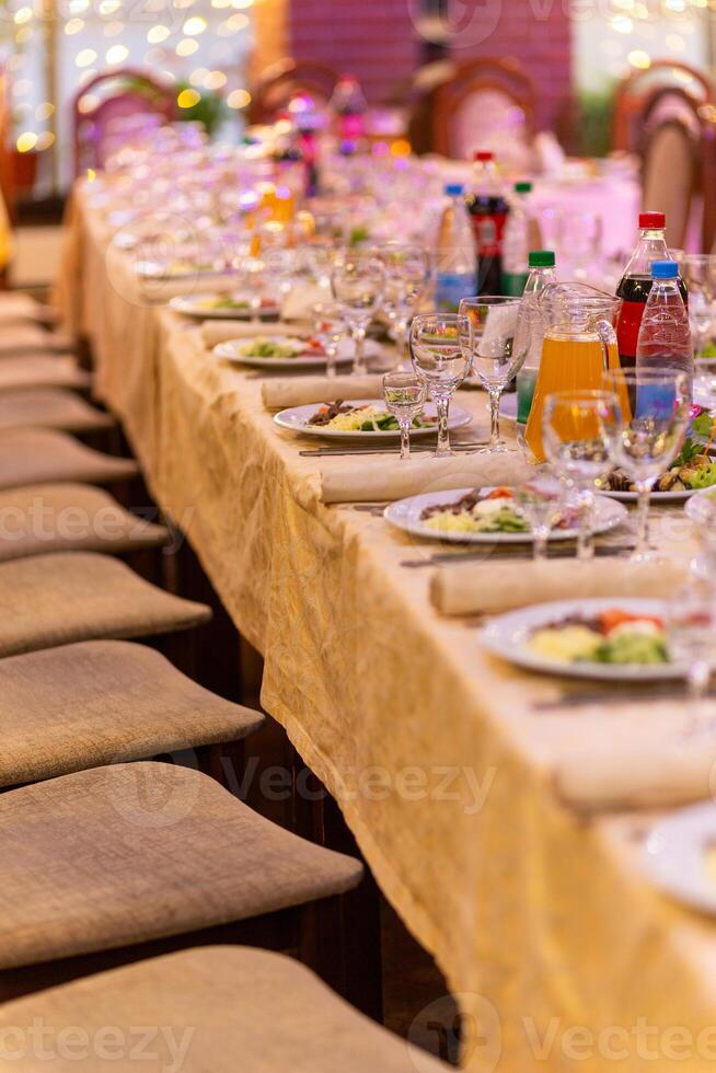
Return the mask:
{"type": "Polygon", "coordinates": [[[450,183],[444,193],[448,200],[438,228],[435,301],[443,313],[457,313],[460,299],[474,298],[477,291],[477,256],[464,187],[450,183]]]}

